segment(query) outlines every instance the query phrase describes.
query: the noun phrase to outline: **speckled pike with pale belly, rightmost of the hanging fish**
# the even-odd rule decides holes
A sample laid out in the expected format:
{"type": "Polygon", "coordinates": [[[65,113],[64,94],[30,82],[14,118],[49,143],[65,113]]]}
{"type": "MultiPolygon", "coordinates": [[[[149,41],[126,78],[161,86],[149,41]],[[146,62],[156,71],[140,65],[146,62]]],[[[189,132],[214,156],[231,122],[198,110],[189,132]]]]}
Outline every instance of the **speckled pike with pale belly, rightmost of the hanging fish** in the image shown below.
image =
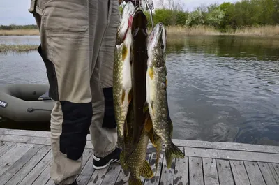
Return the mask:
{"type": "Polygon", "coordinates": [[[146,104],[149,110],[154,133],[165,145],[167,168],[173,158],[184,158],[181,150],[172,142],[172,120],[167,105],[167,68],[165,66],[165,49],[167,31],[162,23],[156,24],[147,41],[146,104]]]}

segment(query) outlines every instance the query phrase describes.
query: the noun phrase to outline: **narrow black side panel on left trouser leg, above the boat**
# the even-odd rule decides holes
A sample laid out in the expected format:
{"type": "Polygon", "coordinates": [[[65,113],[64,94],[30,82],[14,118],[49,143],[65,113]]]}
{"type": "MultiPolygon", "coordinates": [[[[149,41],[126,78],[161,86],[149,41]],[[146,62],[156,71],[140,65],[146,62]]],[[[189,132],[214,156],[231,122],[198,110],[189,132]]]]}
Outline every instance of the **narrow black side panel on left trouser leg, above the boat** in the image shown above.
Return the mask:
{"type": "Polygon", "coordinates": [[[58,82],[57,82],[57,77],[55,72],[55,66],[52,63],[52,61],[47,59],[45,57],[45,54],[43,54],[41,45],[38,47],[38,52],[40,54],[40,57],[42,57],[45,63],[45,68],[47,69],[47,79],[50,84],[49,97],[52,98],[54,101],[59,101],[58,82]]]}

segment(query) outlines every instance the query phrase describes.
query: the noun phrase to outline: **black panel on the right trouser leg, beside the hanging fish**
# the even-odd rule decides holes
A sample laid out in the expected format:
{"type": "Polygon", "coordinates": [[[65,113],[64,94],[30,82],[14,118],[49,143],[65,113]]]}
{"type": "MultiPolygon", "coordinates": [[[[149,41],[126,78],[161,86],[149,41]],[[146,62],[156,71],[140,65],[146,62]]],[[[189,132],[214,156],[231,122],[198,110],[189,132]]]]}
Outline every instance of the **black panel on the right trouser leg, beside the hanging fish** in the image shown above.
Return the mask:
{"type": "Polygon", "coordinates": [[[103,119],[103,128],[116,128],[116,121],[114,117],[114,104],[113,104],[113,94],[112,87],[103,88],[103,94],[105,98],[105,114],[103,119]]]}

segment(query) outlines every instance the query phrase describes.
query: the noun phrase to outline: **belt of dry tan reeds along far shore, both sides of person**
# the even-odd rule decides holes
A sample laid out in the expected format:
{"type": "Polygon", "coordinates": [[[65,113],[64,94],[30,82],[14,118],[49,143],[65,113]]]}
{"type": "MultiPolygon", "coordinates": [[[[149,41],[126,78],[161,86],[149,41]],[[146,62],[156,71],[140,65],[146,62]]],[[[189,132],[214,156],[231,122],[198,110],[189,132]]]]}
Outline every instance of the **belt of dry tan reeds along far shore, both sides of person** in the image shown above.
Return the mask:
{"type": "MultiPolygon", "coordinates": [[[[260,26],[260,27],[243,27],[236,31],[220,32],[214,27],[197,26],[197,27],[167,27],[168,34],[184,35],[235,35],[235,36],[279,36],[279,25],[277,26],[260,26]]],[[[39,36],[38,29],[0,29],[0,36],[39,36]]]]}

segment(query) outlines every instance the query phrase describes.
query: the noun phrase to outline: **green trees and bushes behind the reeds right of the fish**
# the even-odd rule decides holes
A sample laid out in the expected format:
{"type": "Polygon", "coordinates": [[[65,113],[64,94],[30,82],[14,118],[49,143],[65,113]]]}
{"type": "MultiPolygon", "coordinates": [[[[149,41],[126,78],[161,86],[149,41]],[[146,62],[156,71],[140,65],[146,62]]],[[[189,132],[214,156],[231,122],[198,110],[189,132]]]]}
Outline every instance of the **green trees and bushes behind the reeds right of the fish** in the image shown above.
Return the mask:
{"type": "MultiPolygon", "coordinates": [[[[148,12],[146,16],[151,19],[148,12]]],[[[241,0],[236,3],[211,4],[193,11],[160,8],[153,13],[154,23],[163,22],[166,26],[195,25],[211,26],[226,31],[244,26],[279,24],[279,0],[241,0]]]]}

